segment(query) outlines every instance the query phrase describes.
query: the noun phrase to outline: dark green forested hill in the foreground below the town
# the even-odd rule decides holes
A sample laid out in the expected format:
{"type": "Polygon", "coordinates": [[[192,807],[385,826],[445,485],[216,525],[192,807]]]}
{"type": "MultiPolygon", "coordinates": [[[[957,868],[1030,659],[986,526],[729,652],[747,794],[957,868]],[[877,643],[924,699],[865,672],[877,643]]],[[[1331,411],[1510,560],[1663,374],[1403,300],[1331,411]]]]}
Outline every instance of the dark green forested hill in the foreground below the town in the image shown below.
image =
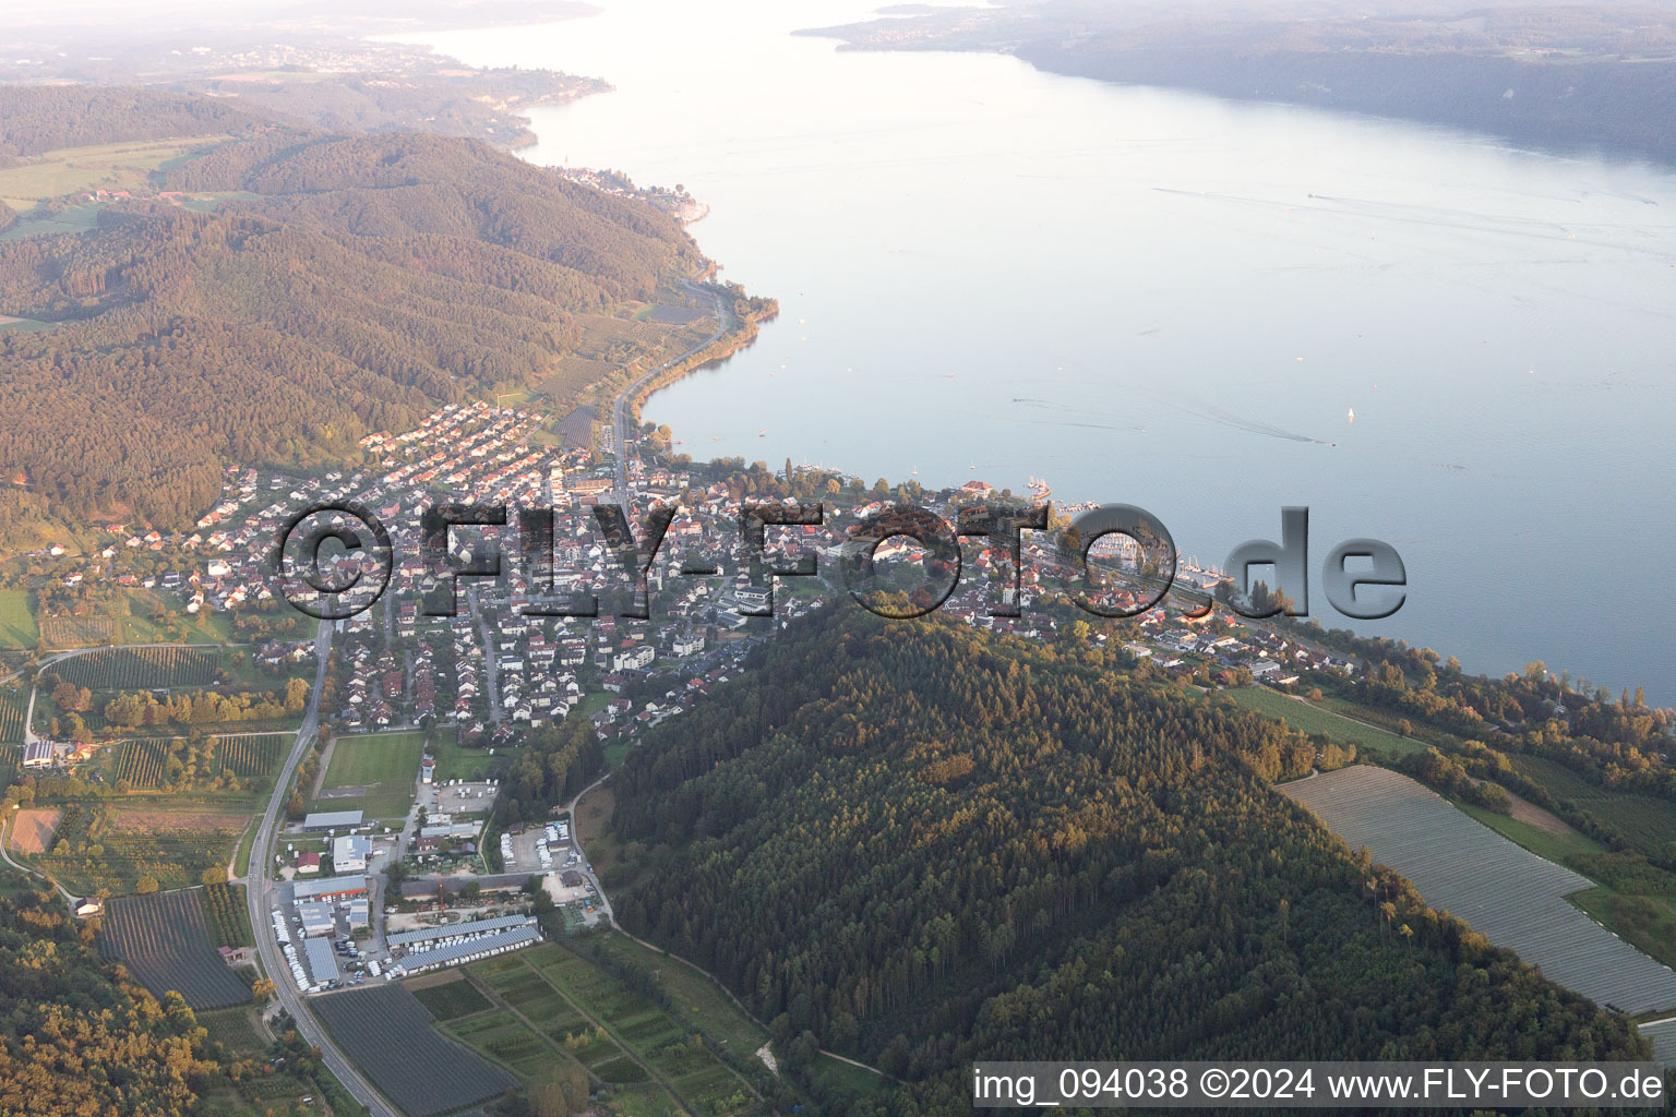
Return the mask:
{"type": "Polygon", "coordinates": [[[975,1058],[1636,1053],[1275,794],[1309,739],[1101,651],[838,613],[615,784],[649,866],[617,916],[801,1038],[793,1072],[833,1048],[952,1114],[975,1058]]]}

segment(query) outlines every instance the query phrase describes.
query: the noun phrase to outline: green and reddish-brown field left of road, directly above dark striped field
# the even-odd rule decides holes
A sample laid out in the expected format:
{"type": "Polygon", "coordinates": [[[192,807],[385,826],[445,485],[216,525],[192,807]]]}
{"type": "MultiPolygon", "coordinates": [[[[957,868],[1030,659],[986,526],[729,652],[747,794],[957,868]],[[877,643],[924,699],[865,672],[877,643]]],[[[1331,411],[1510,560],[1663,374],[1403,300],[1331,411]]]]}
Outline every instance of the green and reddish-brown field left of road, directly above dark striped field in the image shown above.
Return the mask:
{"type": "Polygon", "coordinates": [[[147,876],[159,888],[186,888],[226,864],[248,822],[225,807],[69,802],[40,867],[82,896],[101,888],[121,896],[147,876]]]}

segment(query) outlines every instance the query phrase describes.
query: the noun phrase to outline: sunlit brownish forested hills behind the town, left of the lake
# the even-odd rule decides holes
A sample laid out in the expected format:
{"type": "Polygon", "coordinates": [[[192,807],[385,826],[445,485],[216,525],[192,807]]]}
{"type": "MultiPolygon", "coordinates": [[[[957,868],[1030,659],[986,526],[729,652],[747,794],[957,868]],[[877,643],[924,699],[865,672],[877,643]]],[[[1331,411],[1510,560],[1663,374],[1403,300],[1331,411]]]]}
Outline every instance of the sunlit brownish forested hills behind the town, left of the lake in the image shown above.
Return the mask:
{"type": "MultiPolygon", "coordinates": [[[[42,92],[37,126],[0,141],[64,142],[42,92]]],[[[201,112],[134,102],[147,136],[201,112]]],[[[116,199],[85,233],[0,243],[0,315],[52,323],[0,333],[0,538],[40,516],[189,526],[226,464],[342,461],[437,402],[538,382],[577,315],[701,260],[672,218],[469,139],[260,124],[158,188],[203,201],[116,199]]]]}

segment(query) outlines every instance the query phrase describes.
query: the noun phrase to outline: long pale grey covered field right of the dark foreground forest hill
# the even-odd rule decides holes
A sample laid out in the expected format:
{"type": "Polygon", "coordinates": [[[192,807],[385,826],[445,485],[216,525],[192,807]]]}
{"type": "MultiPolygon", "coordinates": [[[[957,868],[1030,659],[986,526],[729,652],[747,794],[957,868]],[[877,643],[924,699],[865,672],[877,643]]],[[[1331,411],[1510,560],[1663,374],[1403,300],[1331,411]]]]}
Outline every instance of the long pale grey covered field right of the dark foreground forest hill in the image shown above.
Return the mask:
{"type": "Polygon", "coordinates": [[[1425,785],[1356,765],[1280,785],[1351,849],[1396,869],[1431,908],[1465,919],[1565,988],[1626,1013],[1676,1006],[1676,971],[1577,908],[1587,878],[1515,846],[1425,785]]]}

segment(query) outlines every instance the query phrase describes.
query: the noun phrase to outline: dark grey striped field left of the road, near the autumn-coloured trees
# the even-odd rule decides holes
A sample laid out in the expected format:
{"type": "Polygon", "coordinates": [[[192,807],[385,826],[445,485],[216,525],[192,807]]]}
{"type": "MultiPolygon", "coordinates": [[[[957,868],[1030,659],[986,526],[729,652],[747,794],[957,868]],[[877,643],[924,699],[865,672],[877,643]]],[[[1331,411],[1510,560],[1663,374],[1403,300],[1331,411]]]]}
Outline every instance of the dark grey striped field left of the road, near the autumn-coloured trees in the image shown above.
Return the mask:
{"type": "Polygon", "coordinates": [[[194,1010],[250,1000],[250,990],[210,943],[203,908],[189,891],[111,899],[99,928],[99,951],[119,960],[158,996],[174,990],[194,1010]]]}

